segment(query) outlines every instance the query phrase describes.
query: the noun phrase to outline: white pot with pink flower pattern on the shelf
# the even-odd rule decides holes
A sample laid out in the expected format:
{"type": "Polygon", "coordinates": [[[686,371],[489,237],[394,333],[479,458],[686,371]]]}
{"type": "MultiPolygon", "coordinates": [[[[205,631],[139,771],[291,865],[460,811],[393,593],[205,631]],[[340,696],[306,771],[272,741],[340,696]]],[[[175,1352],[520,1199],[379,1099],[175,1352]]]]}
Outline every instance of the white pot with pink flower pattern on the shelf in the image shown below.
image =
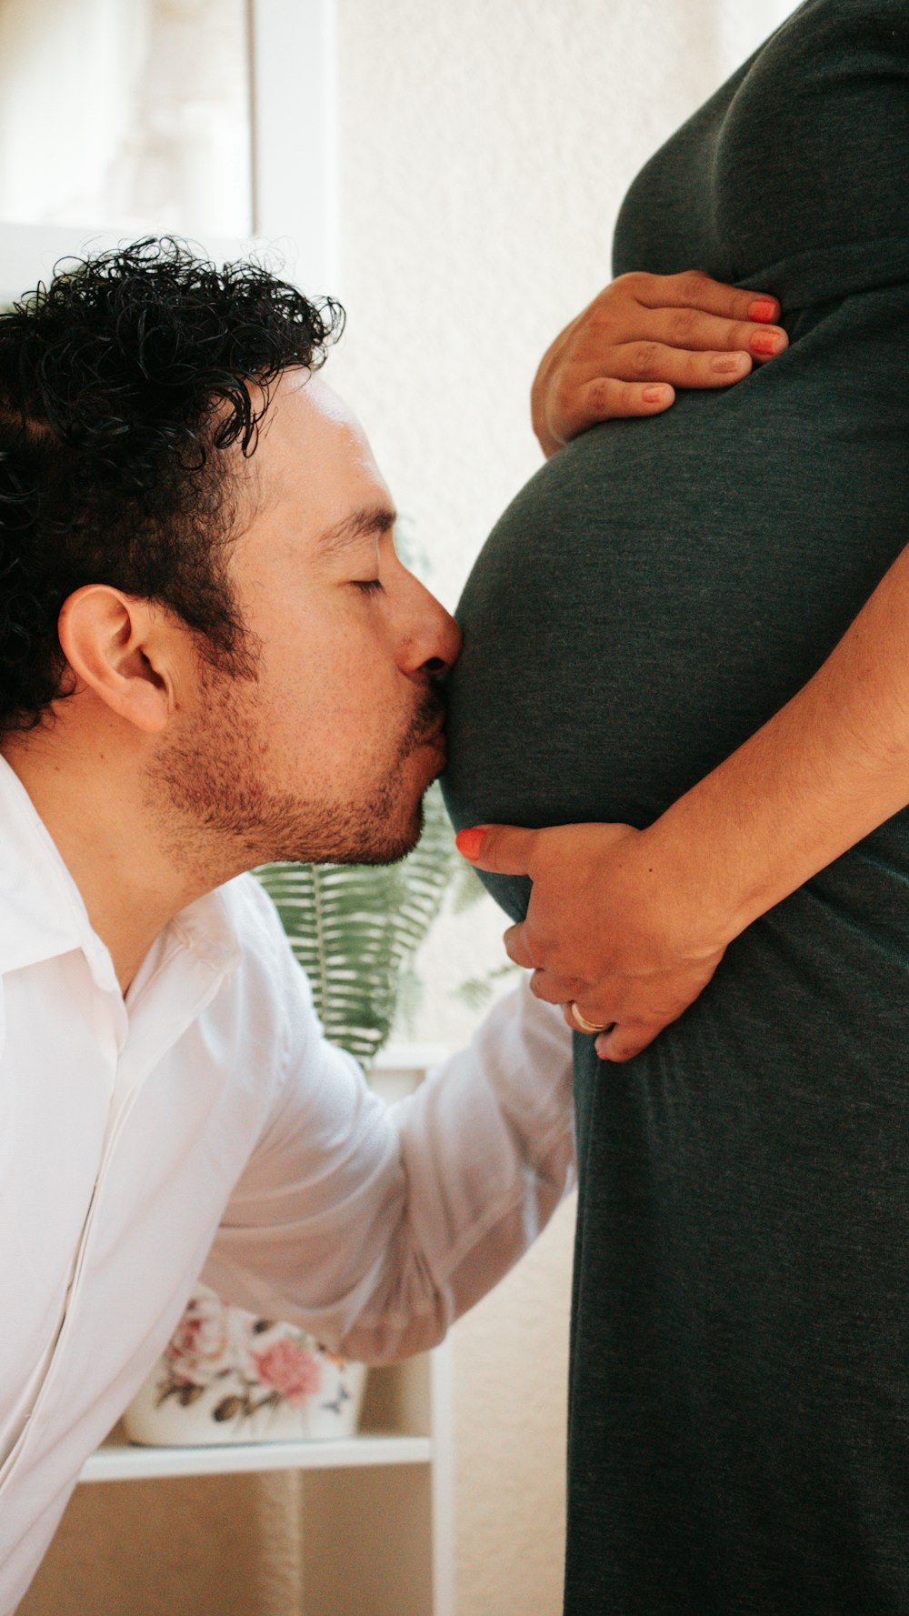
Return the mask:
{"type": "Polygon", "coordinates": [[[350,1437],[365,1378],[304,1330],[197,1285],[123,1425],[150,1446],[350,1437]]]}

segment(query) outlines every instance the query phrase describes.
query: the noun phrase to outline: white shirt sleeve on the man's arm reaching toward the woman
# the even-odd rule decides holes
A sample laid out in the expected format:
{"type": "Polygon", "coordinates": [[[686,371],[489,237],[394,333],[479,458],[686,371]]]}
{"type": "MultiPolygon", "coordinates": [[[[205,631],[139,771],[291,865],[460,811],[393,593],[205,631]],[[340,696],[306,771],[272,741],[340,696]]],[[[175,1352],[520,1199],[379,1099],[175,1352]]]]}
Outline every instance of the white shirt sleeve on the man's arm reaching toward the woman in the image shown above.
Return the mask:
{"type": "Polygon", "coordinates": [[[526,983],[387,1107],[312,1008],[202,1278],[346,1357],[442,1338],[575,1180],[572,1041],[526,983]]]}

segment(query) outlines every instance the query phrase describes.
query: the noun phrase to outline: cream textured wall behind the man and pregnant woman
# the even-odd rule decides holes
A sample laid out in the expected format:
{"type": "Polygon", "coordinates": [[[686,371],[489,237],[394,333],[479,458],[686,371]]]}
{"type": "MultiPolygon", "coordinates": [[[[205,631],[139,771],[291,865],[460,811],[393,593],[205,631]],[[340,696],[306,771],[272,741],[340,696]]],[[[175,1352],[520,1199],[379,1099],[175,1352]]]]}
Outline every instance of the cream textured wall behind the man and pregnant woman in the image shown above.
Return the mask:
{"type": "MultiPolygon", "coordinates": [[[[538,465],[536,360],[609,280],[625,186],[791,5],[337,3],[350,323],[328,375],[454,604],[538,465]]],[[[410,1033],[468,1034],[450,989],[501,929],[486,903],[438,928],[410,1033]]],[[[570,1248],[568,1206],[455,1332],[457,1616],[560,1610],[570,1248]]],[[[297,1616],[295,1534],[286,1477],[84,1488],[23,1616],[297,1616]]]]}

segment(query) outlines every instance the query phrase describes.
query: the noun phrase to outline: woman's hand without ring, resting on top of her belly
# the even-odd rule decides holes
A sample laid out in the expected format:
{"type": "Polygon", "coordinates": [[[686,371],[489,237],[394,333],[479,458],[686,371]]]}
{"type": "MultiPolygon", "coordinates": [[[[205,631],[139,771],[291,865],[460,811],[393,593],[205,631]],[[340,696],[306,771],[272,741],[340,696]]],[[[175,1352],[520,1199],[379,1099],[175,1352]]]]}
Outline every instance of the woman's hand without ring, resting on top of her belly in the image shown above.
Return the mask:
{"type": "Polygon", "coordinates": [[[620,275],[542,356],[531,389],[546,456],[614,415],[659,415],[675,388],[725,388],[788,346],[780,304],[683,275],[620,275]]]}

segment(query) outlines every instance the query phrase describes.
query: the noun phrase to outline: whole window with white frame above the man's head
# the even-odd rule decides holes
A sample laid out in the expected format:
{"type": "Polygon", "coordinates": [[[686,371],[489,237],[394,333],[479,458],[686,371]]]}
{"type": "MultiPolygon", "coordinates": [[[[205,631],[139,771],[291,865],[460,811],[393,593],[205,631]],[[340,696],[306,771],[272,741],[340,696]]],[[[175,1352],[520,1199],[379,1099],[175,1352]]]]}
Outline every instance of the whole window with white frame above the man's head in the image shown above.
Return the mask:
{"type": "Polygon", "coordinates": [[[331,291],[333,154],[333,0],[0,0],[3,299],[168,231],[331,291]]]}

